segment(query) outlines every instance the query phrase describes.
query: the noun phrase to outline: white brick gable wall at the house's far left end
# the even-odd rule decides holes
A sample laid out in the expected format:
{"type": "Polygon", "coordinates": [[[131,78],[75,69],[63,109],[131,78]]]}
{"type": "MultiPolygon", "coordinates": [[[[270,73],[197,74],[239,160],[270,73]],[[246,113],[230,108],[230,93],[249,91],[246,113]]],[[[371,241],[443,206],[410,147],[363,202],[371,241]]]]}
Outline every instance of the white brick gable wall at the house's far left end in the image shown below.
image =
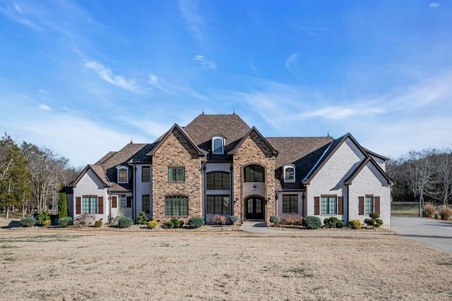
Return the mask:
{"type": "MultiPolygon", "coordinates": [[[[103,197],[103,208],[104,213],[103,214],[93,214],[95,215],[95,219],[104,221],[104,223],[107,221],[107,216],[109,215],[109,206],[108,206],[108,195],[107,195],[107,188],[103,187],[102,182],[100,179],[95,175],[95,173],[88,169],[88,171],[82,176],[82,178],[78,181],[76,184],[76,187],[73,188],[73,199],[75,200],[76,197],[81,197],[81,213],[83,214],[83,196],[84,195],[97,195],[97,197],[103,197]]],[[[76,202],[73,201],[73,216],[76,217],[76,202]]]]}

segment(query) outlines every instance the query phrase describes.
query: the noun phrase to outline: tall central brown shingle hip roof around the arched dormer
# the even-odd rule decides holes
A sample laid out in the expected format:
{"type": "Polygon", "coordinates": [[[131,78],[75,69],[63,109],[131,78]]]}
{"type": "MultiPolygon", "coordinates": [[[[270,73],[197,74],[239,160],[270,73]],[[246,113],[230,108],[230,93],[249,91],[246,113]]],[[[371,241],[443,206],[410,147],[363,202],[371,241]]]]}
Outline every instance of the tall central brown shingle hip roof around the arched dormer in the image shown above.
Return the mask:
{"type": "Polygon", "coordinates": [[[196,117],[184,130],[193,141],[206,152],[212,147],[212,137],[221,135],[225,137],[225,155],[209,155],[208,159],[230,159],[226,155],[239,143],[250,130],[249,126],[237,114],[205,115],[196,117]]]}

